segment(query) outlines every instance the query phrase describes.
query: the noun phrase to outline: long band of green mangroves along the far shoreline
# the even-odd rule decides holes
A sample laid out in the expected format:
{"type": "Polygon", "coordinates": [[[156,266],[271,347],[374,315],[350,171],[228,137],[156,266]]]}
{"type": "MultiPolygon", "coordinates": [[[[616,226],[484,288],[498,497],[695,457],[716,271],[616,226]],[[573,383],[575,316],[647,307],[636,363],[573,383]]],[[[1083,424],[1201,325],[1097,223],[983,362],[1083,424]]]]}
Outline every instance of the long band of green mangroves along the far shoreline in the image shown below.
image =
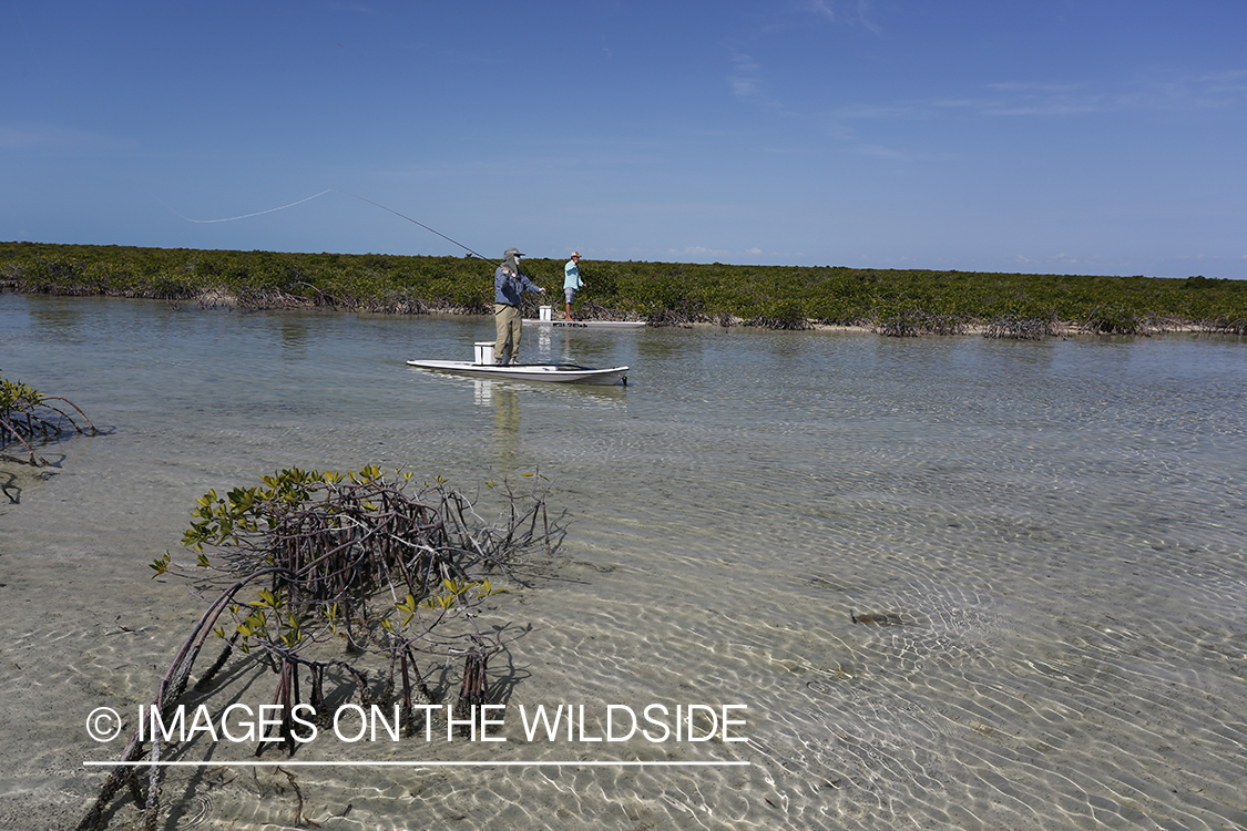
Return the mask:
{"type": "MultiPolygon", "coordinates": [[[[475,257],[297,254],[0,243],[0,288],[242,308],[488,313],[495,263],[475,257]]],[[[889,335],[1034,336],[1052,328],[1247,333],[1247,280],[845,267],[584,260],[584,313],[652,325],[857,325],[889,335]],[[1025,321],[1020,328],[1014,321],[1025,321]]],[[[555,292],[562,262],[525,272],[555,292]]],[[[527,304],[536,304],[529,297],[527,304]]]]}

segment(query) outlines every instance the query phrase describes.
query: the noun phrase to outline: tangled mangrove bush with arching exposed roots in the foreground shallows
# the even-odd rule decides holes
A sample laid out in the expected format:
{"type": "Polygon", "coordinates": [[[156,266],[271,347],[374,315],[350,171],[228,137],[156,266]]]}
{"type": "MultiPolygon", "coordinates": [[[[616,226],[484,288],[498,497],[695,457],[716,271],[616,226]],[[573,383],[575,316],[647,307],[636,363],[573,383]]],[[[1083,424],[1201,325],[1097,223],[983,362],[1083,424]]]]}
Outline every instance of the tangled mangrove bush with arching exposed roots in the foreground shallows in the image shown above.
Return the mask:
{"type": "MultiPolygon", "coordinates": [[[[489,574],[519,579],[526,551],[544,544],[549,553],[537,478],[524,493],[490,483],[489,492],[500,497],[495,522],[485,522],[476,502],[440,477],[416,485],[410,473],[374,466],[345,473],[291,468],[253,487],[208,491],[182,539],[193,563],[178,564],[165,552],[150,564],[153,577],[178,574],[193,583],[196,597],[211,598],[150,711],[168,715],[178,705],[201,652],[217,640],[223,647],[196,683],[200,695],[214,691],[214,678],[231,658],[247,662],[244,673],[276,678],[272,701],[281,718],[274,716],[272,738],[261,741],[257,755],[266,741],[293,754],[306,740],[297,736],[296,721],[308,723],[296,719],[296,708],[311,705],[314,715],[306,718],[323,720],[332,715],[329,699],[358,695],[365,706],[397,704],[409,735],[425,729],[424,719],[434,716],[416,705],[445,695],[449,689],[439,684],[449,680],[440,670],[441,680],[430,681],[421,662],[464,662],[453,711],[469,718],[471,706],[490,698],[486,663],[503,648],[476,623],[486,601],[504,591],[489,574]]],[[[140,725],[120,761],[145,754],[157,761],[161,753],[160,734],[140,725]]],[[[104,827],[122,789],[155,827],[158,770],[151,767],[143,795],[133,766],[115,767],[79,827],[104,827]]]]}

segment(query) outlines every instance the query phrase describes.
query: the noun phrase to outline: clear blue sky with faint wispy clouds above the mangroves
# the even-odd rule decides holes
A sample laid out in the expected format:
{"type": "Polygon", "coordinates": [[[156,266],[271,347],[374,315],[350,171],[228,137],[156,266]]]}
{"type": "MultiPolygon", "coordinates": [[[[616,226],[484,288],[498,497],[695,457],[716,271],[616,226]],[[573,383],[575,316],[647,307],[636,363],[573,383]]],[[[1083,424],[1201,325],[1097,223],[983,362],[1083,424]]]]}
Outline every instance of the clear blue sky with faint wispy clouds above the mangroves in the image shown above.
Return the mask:
{"type": "Polygon", "coordinates": [[[1241,0],[0,0],[0,239],[464,253],[362,197],[586,273],[1247,278],[1245,42],[1241,0]]]}

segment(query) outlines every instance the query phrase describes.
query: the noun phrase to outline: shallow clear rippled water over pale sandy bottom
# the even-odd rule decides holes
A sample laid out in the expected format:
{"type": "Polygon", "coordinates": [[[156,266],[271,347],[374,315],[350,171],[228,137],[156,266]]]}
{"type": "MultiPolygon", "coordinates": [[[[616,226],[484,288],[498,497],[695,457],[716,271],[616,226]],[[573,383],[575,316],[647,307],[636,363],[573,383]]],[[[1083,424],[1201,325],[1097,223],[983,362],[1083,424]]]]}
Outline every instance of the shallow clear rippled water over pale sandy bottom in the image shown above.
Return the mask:
{"type": "Polygon", "coordinates": [[[86,714],[147,700],[200,608],[147,569],[196,497],[367,463],[549,480],[557,571],[491,622],[510,705],[746,704],[749,741],[306,759],[748,766],[182,769],[168,827],[293,827],[299,795],[323,829],[1247,825],[1247,344],[560,329],[524,355],[628,386],[404,364],[490,336],[0,295],[4,376],[107,427],[0,463],[0,825],[89,806],[120,748],[86,714]]]}

